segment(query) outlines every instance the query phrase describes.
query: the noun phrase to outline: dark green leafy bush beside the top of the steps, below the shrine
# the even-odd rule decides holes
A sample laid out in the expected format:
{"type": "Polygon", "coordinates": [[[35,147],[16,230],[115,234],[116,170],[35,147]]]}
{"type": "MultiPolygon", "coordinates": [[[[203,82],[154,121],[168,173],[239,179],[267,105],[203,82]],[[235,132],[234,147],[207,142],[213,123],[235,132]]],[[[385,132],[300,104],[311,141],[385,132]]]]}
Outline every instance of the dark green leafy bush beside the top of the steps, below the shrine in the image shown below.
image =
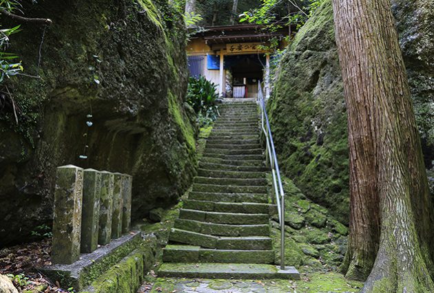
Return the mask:
{"type": "Polygon", "coordinates": [[[187,102],[192,106],[200,127],[209,125],[217,118],[216,85],[211,83],[205,77],[190,77],[187,89],[187,102]]]}

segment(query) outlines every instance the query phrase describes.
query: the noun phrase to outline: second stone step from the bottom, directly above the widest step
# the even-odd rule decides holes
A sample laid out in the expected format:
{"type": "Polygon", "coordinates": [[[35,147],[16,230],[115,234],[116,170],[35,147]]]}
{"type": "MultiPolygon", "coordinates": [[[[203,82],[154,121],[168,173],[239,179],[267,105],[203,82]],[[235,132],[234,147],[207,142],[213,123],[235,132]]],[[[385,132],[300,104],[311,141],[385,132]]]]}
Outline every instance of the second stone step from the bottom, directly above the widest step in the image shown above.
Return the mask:
{"type": "Polygon", "coordinates": [[[273,263],[273,250],[218,250],[200,246],[169,245],[163,261],[172,263],[273,263]]]}

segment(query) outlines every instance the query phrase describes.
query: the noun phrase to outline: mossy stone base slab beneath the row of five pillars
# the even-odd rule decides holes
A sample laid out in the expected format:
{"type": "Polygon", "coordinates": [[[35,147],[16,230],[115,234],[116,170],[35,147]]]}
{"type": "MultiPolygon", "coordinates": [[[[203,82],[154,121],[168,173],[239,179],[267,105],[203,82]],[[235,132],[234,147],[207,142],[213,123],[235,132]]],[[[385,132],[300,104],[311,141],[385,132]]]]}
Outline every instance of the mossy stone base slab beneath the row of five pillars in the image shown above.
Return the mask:
{"type": "Polygon", "coordinates": [[[130,254],[141,243],[143,243],[141,232],[132,232],[112,240],[92,253],[81,254],[79,261],[70,265],[50,265],[41,271],[52,281],[59,281],[62,287],[74,287],[75,290],[81,290],[130,254]]]}

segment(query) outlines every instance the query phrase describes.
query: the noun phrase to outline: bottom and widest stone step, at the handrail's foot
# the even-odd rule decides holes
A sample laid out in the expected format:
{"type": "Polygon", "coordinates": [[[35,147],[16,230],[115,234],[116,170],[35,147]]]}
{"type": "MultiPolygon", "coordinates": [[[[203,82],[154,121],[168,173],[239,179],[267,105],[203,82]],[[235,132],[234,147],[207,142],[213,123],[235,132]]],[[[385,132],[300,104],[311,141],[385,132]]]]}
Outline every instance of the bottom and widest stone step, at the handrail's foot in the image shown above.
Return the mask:
{"type": "Polygon", "coordinates": [[[293,279],[300,274],[294,267],[280,270],[276,265],[254,263],[163,263],[158,276],[207,279],[293,279]]]}

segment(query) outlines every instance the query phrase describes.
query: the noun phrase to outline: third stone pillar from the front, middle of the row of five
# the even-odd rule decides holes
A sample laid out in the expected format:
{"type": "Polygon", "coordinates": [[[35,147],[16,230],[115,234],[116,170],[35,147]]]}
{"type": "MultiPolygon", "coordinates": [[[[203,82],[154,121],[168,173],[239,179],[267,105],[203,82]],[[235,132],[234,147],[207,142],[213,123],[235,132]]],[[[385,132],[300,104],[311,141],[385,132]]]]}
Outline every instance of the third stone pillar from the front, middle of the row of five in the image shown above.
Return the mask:
{"type": "Polygon", "coordinates": [[[99,204],[98,243],[105,245],[112,239],[114,175],[107,171],[101,172],[101,200],[99,204]]]}

